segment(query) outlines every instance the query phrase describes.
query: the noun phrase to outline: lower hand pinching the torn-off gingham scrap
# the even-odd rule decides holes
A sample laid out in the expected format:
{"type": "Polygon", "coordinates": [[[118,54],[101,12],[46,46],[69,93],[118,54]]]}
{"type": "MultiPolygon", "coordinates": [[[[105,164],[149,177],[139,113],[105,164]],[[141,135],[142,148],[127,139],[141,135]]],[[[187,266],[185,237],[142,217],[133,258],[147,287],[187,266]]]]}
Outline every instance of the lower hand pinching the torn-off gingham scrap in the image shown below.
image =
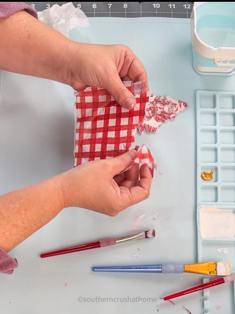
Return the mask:
{"type": "Polygon", "coordinates": [[[137,152],[90,161],[60,175],[64,207],[82,207],[116,216],[149,196],[152,177],[147,164],[133,164],[137,152]],[[118,174],[118,175],[117,175],[118,174]],[[140,177],[140,180],[139,180],[140,177]]]}

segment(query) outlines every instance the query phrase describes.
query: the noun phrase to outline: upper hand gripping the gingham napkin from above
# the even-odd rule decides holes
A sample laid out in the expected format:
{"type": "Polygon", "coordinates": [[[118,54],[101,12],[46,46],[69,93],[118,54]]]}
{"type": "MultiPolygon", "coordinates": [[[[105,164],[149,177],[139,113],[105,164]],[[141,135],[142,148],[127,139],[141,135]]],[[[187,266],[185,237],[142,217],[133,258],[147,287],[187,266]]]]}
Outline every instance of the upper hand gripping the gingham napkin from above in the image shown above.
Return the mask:
{"type": "Polygon", "coordinates": [[[122,81],[147,80],[143,64],[127,46],[92,45],[71,42],[73,57],[69,64],[69,81],[73,89],[102,87],[119,105],[133,109],[136,100],[122,81]]]}

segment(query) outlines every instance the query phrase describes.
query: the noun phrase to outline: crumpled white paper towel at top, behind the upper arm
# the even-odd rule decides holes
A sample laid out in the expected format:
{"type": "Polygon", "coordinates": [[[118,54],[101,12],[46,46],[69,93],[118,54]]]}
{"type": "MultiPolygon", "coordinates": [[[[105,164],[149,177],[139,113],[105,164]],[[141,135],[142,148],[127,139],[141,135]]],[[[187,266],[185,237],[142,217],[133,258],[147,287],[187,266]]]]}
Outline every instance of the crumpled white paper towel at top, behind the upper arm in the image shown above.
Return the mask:
{"type": "Polygon", "coordinates": [[[47,24],[69,37],[69,31],[75,27],[88,27],[90,23],[79,8],[75,8],[72,2],[62,6],[54,4],[50,9],[38,12],[39,21],[47,24]]]}

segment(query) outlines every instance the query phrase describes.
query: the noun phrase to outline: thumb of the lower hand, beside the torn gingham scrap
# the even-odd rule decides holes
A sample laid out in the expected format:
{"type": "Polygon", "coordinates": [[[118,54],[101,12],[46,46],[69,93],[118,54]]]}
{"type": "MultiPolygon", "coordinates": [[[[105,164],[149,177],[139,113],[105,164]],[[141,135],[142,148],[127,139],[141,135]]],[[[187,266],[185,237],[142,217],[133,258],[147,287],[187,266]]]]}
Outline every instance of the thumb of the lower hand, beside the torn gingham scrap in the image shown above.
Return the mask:
{"type": "Polygon", "coordinates": [[[118,173],[127,170],[133,164],[137,154],[135,149],[131,149],[125,154],[119,155],[113,159],[108,159],[108,162],[112,163],[112,175],[116,176],[118,173]]]}

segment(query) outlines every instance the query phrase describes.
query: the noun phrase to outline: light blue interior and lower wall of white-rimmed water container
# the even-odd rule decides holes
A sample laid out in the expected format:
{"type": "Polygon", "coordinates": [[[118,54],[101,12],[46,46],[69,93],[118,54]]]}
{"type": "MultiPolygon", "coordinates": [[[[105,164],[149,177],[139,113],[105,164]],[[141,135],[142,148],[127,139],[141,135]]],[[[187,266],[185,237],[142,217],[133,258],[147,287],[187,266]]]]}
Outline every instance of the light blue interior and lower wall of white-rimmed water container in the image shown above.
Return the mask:
{"type": "MultiPolygon", "coordinates": [[[[235,3],[208,2],[199,5],[196,8],[196,32],[201,41],[213,48],[235,48],[235,3]]],[[[218,67],[213,59],[199,55],[194,49],[193,56],[202,68],[217,68],[218,72],[220,69],[227,72],[233,70],[233,67],[218,67]]]]}

